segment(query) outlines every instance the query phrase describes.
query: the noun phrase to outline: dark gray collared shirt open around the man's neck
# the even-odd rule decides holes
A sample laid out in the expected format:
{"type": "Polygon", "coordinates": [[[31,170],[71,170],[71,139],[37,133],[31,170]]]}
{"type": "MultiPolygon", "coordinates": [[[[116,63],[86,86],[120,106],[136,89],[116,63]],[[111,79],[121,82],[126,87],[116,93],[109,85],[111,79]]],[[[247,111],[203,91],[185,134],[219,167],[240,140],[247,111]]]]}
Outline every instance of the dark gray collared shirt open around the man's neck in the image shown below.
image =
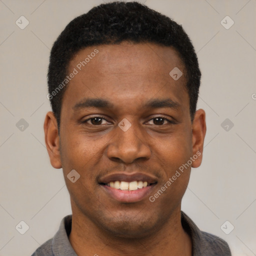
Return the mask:
{"type": "MultiPolygon", "coordinates": [[[[47,240],[31,256],[77,256],[68,236],[71,231],[72,215],[65,216],[53,238],[47,240]]],[[[202,232],[195,223],[181,211],[181,223],[192,239],[192,256],[230,256],[227,243],[210,233],[202,232]]]]}

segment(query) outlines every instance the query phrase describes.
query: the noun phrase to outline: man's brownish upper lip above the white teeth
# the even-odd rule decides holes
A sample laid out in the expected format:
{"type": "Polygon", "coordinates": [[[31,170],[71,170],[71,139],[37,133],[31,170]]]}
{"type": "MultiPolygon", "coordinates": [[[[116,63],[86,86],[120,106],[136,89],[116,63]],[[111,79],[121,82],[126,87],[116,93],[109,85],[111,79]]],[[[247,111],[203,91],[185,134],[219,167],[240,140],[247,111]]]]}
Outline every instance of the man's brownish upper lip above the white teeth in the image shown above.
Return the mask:
{"type": "Polygon", "coordinates": [[[111,181],[147,181],[147,183],[155,183],[157,178],[155,176],[149,175],[147,173],[142,172],[134,172],[134,173],[124,173],[124,172],[115,172],[111,174],[107,174],[98,179],[99,183],[109,183],[111,181]]]}

